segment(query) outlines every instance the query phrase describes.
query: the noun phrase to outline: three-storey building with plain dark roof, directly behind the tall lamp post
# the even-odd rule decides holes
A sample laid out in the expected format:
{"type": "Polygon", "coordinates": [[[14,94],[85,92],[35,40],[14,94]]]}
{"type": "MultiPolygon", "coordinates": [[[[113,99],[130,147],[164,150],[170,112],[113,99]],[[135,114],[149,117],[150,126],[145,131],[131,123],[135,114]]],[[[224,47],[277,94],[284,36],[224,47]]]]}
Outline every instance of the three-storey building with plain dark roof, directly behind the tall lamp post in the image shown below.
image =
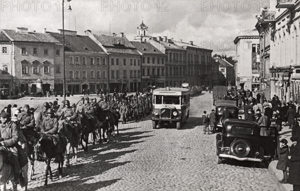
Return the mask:
{"type": "MultiPolygon", "coordinates": [[[[47,32],[62,42],[62,30],[47,32]]],[[[65,77],[66,90],[81,94],[96,89],[106,91],[108,85],[108,54],[86,35],[77,35],[76,31],[64,30],[65,39],[65,77]]],[[[60,55],[62,56],[62,55],[60,55]]],[[[54,89],[63,91],[62,63],[55,65],[54,89]]]]}

